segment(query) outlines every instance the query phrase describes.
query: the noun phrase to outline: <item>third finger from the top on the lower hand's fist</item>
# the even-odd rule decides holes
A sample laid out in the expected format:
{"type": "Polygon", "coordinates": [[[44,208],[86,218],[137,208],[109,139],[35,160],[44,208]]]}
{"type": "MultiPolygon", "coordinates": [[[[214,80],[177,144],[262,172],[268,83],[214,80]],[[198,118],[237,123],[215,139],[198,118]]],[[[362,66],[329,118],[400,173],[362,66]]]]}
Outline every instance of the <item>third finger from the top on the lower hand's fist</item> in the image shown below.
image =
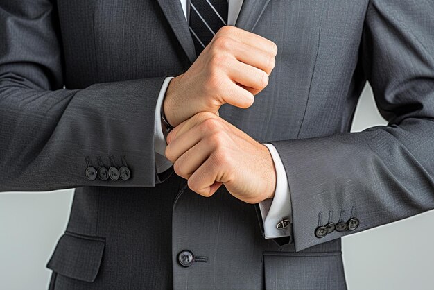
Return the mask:
{"type": "Polygon", "coordinates": [[[173,164],[175,173],[182,178],[189,179],[190,176],[208,159],[214,146],[202,139],[201,142],[189,148],[173,164]]]}

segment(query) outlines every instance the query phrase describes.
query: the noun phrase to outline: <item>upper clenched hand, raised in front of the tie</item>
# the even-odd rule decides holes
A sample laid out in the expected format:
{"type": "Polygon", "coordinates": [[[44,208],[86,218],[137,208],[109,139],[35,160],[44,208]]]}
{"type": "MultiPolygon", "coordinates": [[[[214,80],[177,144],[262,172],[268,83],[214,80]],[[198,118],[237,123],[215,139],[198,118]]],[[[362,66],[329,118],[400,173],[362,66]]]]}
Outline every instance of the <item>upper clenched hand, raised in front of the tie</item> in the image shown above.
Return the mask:
{"type": "Polygon", "coordinates": [[[163,103],[168,123],[177,126],[198,112],[216,113],[229,103],[248,108],[268,85],[277,46],[234,26],[223,26],[188,71],[171,80],[163,103]]]}

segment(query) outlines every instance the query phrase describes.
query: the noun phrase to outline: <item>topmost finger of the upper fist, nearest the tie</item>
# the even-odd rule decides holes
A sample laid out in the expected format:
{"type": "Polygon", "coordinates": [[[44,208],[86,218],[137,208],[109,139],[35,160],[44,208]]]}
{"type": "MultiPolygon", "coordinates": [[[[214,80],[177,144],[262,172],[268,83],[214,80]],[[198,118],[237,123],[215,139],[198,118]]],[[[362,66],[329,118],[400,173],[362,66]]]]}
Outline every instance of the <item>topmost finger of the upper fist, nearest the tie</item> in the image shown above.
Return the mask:
{"type": "Polygon", "coordinates": [[[245,31],[235,26],[223,26],[218,33],[214,36],[211,42],[214,42],[220,36],[230,37],[233,40],[242,42],[256,49],[260,49],[265,53],[270,53],[273,57],[277,54],[277,45],[271,40],[266,39],[260,35],[245,31]]]}

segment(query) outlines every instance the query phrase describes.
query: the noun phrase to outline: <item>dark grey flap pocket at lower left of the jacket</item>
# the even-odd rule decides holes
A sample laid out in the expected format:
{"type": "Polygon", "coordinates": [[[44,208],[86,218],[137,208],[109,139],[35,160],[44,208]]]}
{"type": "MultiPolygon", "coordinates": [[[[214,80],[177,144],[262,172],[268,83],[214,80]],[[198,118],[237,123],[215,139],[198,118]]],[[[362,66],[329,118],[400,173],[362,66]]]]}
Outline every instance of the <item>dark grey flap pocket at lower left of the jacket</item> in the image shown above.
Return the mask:
{"type": "Polygon", "coordinates": [[[65,232],[46,266],[60,275],[94,282],[101,266],[104,247],[104,238],[65,232]]]}

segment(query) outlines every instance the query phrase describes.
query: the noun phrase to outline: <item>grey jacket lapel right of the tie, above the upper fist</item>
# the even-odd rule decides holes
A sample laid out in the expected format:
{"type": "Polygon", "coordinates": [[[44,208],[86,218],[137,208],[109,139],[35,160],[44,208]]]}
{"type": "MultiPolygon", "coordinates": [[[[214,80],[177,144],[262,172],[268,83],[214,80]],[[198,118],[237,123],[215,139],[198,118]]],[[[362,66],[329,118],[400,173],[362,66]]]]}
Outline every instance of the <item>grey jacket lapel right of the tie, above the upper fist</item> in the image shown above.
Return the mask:
{"type": "Polygon", "coordinates": [[[252,32],[270,0],[244,0],[235,26],[252,32]]]}

